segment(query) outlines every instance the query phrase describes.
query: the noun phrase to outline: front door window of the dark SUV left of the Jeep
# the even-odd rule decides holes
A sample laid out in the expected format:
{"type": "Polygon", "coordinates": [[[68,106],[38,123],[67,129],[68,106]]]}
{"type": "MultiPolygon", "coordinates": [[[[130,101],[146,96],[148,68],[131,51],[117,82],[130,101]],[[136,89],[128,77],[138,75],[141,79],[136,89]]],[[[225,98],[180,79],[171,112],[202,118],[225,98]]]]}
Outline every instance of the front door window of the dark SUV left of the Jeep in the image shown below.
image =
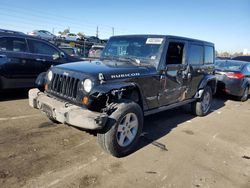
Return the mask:
{"type": "Polygon", "coordinates": [[[53,48],[52,46],[44,42],[40,42],[36,40],[28,40],[28,44],[29,44],[31,53],[43,54],[43,55],[48,55],[48,56],[59,54],[59,52],[55,48],[53,48]]]}

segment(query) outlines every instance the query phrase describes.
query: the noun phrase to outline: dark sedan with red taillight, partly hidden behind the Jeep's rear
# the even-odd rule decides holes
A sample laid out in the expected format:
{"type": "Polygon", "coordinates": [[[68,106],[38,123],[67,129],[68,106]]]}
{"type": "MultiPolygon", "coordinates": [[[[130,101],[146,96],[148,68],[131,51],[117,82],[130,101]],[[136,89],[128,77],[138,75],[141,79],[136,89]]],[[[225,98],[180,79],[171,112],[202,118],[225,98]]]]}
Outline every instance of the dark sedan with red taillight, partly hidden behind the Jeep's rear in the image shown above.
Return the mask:
{"type": "Polygon", "coordinates": [[[250,63],[236,60],[218,60],[215,63],[218,91],[246,101],[250,93],[250,63]]]}

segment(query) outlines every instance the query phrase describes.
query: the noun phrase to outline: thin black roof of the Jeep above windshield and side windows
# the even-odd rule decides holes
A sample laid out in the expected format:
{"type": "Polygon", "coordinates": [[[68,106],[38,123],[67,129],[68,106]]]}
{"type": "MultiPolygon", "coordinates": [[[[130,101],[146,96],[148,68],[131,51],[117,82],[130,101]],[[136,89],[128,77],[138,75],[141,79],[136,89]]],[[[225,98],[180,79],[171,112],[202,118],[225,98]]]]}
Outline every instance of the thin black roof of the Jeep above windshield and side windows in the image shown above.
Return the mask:
{"type": "Polygon", "coordinates": [[[165,40],[185,40],[189,42],[195,42],[195,43],[200,43],[203,45],[208,45],[208,46],[214,46],[214,43],[212,42],[207,42],[203,40],[198,40],[198,39],[192,39],[192,38],[187,38],[187,37],[181,37],[181,36],[175,36],[175,35],[158,35],[158,34],[136,34],[136,35],[118,35],[118,36],[113,36],[111,38],[119,38],[119,37],[146,37],[146,38],[165,38],[165,40]]]}

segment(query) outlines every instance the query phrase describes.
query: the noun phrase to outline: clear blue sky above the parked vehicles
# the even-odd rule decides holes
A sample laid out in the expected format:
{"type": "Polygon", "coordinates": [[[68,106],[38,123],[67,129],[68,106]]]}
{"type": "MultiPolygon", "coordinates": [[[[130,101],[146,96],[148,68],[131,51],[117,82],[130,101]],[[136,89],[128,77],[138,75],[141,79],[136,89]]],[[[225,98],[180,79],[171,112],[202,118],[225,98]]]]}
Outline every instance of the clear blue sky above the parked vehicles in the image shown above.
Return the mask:
{"type": "Polygon", "coordinates": [[[218,51],[250,50],[250,0],[1,0],[0,28],[170,34],[207,40],[218,51]]]}

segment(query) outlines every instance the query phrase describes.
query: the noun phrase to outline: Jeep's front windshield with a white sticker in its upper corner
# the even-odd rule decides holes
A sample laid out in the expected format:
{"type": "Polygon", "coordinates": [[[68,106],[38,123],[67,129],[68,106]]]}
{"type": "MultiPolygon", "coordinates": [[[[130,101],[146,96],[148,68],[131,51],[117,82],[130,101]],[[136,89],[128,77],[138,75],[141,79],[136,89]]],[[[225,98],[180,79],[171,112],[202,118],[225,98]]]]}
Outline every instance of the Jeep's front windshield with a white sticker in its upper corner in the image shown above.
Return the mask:
{"type": "Polygon", "coordinates": [[[103,50],[102,58],[121,58],[140,63],[156,63],[160,58],[163,37],[113,37],[103,50]]]}

